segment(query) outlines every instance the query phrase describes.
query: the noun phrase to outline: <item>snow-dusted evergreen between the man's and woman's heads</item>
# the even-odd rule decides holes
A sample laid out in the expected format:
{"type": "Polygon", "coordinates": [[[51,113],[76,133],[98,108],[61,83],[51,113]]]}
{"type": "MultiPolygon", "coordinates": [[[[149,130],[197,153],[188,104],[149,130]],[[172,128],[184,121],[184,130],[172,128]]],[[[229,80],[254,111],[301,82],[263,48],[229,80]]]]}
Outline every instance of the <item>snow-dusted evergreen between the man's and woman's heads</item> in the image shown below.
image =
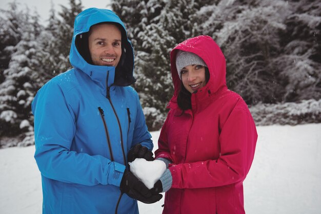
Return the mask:
{"type": "Polygon", "coordinates": [[[173,94],[169,53],[179,42],[195,36],[193,25],[199,6],[194,0],[150,0],[114,1],[112,7],[132,36],[137,78],[134,87],[149,129],[157,130],[173,94]]]}

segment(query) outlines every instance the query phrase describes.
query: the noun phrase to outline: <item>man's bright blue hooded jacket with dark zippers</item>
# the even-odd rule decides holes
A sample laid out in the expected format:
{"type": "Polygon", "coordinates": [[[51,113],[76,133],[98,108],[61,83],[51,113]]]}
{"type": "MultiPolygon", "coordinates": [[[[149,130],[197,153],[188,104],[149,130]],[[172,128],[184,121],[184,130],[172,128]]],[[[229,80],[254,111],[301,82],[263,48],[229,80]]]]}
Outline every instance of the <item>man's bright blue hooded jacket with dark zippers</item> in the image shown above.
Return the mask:
{"type": "Polygon", "coordinates": [[[138,213],[137,201],[119,185],[129,149],[153,144],[138,95],[128,86],[135,81],[134,57],[121,19],[106,9],[79,13],[70,62],[73,69],[48,81],[32,102],[43,213],[115,213],[117,203],[118,213],[138,213]],[[122,31],[116,69],[90,63],[88,31],[103,22],[122,31]]]}

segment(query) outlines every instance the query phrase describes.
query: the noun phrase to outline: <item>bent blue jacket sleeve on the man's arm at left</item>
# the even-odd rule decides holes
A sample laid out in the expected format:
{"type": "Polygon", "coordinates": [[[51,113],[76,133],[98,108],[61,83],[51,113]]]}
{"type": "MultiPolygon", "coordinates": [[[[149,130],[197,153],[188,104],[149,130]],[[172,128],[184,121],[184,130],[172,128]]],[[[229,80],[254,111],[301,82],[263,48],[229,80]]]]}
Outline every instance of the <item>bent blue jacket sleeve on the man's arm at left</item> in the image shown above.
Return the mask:
{"type": "Polygon", "coordinates": [[[43,176],[88,186],[120,185],[124,165],[100,155],[70,151],[76,132],[76,116],[59,84],[48,82],[39,90],[32,102],[32,112],[35,127],[34,158],[43,176]]]}

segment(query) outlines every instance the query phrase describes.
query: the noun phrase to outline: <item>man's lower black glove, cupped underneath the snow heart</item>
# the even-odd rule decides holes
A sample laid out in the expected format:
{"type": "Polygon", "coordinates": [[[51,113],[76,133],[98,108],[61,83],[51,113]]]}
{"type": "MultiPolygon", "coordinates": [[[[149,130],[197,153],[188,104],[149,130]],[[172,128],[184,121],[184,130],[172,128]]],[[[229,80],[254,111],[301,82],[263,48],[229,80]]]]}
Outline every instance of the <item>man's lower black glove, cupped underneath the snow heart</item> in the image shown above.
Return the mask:
{"type": "Polygon", "coordinates": [[[146,204],[152,204],[162,199],[162,194],[152,195],[143,182],[139,181],[131,172],[125,169],[121,181],[121,192],[126,193],[130,198],[136,199],[146,204]]]}

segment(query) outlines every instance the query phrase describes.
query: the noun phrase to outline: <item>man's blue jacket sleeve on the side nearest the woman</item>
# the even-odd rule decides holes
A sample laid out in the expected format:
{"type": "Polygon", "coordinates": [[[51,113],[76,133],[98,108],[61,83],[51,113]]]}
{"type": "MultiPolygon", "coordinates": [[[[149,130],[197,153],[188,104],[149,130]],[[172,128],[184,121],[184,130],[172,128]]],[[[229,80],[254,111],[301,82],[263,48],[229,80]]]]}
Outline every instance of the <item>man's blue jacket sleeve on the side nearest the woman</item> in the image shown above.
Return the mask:
{"type": "Polygon", "coordinates": [[[146,146],[150,151],[152,151],[154,145],[152,141],[152,136],[149,133],[146,125],[145,116],[143,113],[142,105],[139,102],[138,94],[136,94],[136,120],[135,120],[135,127],[133,133],[133,141],[131,147],[136,145],[137,143],[141,143],[142,146],[146,146]]]}

